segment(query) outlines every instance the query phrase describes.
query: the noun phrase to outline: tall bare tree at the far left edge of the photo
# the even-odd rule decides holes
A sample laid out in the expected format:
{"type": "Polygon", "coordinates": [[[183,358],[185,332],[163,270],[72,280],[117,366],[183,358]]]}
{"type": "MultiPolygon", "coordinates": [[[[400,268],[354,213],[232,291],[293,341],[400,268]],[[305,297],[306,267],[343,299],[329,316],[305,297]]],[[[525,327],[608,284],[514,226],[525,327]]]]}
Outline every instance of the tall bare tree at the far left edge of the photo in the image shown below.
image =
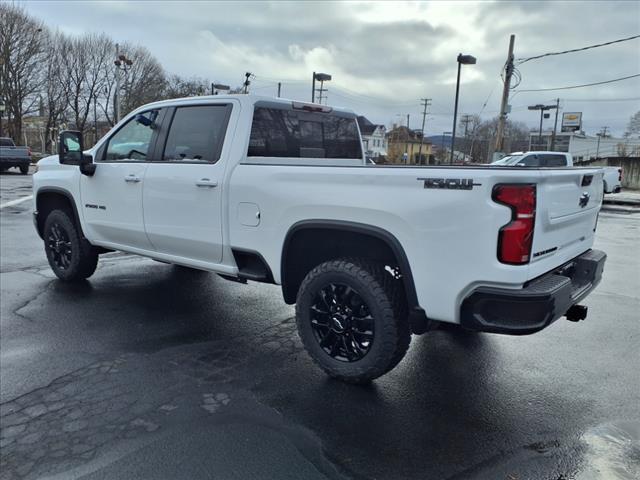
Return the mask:
{"type": "Polygon", "coordinates": [[[0,93],[8,117],[8,131],[22,142],[25,115],[38,110],[41,62],[47,37],[44,24],[24,8],[0,3],[0,93]]]}

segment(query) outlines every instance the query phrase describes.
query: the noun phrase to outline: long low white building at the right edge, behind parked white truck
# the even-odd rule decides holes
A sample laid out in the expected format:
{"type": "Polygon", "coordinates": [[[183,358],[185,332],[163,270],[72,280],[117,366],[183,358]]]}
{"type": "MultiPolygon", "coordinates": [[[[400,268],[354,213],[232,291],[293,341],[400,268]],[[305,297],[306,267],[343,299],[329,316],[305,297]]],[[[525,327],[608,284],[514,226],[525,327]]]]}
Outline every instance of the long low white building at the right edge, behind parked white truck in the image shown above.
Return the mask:
{"type": "Polygon", "coordinates": [[[597,157],[638,157],[640,138],[613,138],[585,135],[583,132],[556,133],[555,146],[551,148],[551,131],[542,132],[540,142],[538,132],[531,132],[529,150],[554,150],[569,152],[577,162],[597,157]]]}

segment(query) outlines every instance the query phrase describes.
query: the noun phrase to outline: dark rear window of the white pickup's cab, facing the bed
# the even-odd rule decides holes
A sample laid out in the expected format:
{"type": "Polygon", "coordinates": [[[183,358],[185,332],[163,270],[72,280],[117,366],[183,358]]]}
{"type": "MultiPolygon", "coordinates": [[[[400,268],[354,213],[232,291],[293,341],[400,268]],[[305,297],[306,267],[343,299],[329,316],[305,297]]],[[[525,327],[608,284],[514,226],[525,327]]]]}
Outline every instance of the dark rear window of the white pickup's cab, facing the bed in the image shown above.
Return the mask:
{"type": "Polygon", "coordinates": [[[257,107],[249,157],[362,158],[355,118],[257,107]]]}

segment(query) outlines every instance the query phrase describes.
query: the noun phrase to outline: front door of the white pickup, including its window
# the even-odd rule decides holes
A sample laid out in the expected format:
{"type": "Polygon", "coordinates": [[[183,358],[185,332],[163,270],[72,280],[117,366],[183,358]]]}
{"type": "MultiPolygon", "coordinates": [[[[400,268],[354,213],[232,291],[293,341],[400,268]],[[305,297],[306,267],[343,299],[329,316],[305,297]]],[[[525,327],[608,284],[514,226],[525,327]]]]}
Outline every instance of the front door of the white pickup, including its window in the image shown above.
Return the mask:
{"type": "Polygon", "coordinates": [[[152,249],[142,219],[142,188],[158,136],[154,126],[163,113],[152,109],[125,123],[96,153],[95,174],[80,176],[80,207],[91,240],[152,249]]]}

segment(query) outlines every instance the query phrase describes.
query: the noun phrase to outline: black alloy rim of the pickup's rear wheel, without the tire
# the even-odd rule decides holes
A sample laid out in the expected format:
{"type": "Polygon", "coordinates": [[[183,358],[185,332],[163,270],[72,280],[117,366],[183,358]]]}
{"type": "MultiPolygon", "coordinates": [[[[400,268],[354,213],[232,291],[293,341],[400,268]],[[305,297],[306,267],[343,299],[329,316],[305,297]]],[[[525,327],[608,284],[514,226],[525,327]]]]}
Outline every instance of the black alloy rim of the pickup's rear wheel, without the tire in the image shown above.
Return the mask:
{"type": "Polygon", "coordinates": [[[309,310],[314,336],[327,355],[355,362],[369,353],[375,320],[356,290],[329,283],[318,291],[309,310]]]}

